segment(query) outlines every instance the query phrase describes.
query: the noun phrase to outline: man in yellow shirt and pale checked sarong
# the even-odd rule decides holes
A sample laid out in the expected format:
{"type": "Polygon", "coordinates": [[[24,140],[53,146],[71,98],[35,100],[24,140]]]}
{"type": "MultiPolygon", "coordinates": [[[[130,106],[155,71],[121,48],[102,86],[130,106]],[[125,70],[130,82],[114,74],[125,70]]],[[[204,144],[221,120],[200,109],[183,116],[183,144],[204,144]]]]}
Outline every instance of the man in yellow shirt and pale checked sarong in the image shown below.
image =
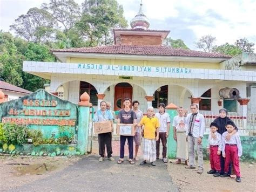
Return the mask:
{"type": "Polygon", "coordinates": [[[151,162],[152,166],[156,166],[157,159],[157,149],[156,149],[156,141],[159,139],[159,121],[156,117],[153,116],[154,108],[149,107],[147,109],[147,116],[144,116],[142,120],[137,125],[138,127],[143,128],[143,158],[144,161],[140,163],[140,165],[146,164],[146,161],[151,162]],[[156,135],[157,132],[157,135],[156,135]]]}

